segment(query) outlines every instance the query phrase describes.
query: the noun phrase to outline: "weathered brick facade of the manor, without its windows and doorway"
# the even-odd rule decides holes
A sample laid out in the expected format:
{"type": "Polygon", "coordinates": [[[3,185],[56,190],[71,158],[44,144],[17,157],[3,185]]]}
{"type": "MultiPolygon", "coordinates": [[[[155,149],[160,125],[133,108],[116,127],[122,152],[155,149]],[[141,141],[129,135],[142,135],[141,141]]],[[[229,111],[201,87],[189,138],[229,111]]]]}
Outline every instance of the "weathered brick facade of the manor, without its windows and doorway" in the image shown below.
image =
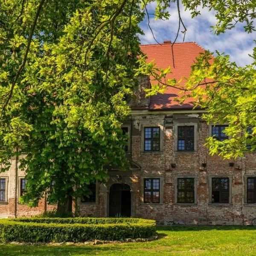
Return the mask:
{"type": "MultiPolygon", "coordinates": [[[[256,217],[256,205],[246,204],[245,177],[256,175],[256,153],[246,154],[244,158],[223,160],[217,155],[209,156],[204,146],[206,138],[210,136],[209,127],[200,119],[199,114],[138,114],[133,115],[127,124],[131,127],[131,159],[141,166],[140,170],[132,170],[131,175],[125,176],[125,181],[115,179],[115,172],[111,172],[111,183],[100,184],[96,204],[79,204],[82,216],[108,216],[109,189],[113,183],[128,183],[131,186],[132,216],[156,219],[162,224],[250,224],[256,217]],[[167,120],[168,119],[168,120],[167,120]],[[192,123],[197,127],[197,148],[195,152],[175,151],[175,124],[192,123]],[[161,129],[160,152],[143,152],[143,129],[148,126],[159,126],[161,129]],[[230,167],[229,163],[234,162],[230,167]],[[176,167],[172,168],[171,164],[176,167]],[[202,167],[206,163],[206,167],[202,167]],[[232,197],[230,204],[211,204],[209,175],[230,177],[232,197]],[[247,175],[247,176],[246,176],[247,175]],[[175,177],[196,177],[195,204],[175,203],[175,177]],[[161,177],[163,190],[162,203],[143,203],[143,177],[161,177]]],[[[18,176],[25,175],[19,170],[18,176]]],[[[0,204],[0,217],[15,216],[15,161],[12,167],[1,177],[9,177],[8,203],[0,204]]],[[[28,208],[17,204],[17,216],[38,215],[56,206],[47,205],[43,198],[38,207],[28,208]]]]}

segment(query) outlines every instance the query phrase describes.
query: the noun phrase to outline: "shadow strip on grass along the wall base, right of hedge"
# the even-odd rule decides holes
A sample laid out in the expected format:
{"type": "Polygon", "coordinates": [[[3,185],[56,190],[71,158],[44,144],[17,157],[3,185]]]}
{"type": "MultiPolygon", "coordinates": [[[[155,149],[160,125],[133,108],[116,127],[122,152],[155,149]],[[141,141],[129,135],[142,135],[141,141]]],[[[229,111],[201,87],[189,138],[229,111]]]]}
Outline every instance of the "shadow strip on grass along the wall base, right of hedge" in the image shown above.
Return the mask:
{"type": "Polygon", "coordinates": [[[157,226],[157,231],[201,231],[201,230],[256,230],[253,226],[201,226],[201,225],[173,225],[157,226]]]}

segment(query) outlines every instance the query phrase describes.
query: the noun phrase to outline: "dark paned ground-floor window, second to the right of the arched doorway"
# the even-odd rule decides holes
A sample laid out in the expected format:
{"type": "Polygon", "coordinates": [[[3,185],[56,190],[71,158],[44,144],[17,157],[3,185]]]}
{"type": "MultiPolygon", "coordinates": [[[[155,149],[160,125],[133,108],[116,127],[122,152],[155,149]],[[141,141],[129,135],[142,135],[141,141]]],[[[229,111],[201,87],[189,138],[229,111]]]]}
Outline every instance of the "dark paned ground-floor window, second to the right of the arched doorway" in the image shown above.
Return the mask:
{"type": "Polygon", "coordinates": [[[194,178],[178,178],[177,183],[177,203],[195,203],[194,178]]]}

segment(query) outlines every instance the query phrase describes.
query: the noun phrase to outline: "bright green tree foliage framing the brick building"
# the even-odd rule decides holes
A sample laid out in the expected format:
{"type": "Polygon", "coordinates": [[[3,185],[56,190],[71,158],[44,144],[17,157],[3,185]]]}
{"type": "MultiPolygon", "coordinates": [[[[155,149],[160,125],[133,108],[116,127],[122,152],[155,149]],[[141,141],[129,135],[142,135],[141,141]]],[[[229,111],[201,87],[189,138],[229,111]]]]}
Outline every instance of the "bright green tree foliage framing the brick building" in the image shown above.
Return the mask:
{"type": "MultiPolygon", "coordinates": [[[[154,73],[161,81],[169,71],[157,70],[143,57],[138,61],[142,54],[138,35],[143,33],[139,24],[149,17],[148,4],[156,4],[156,18],[168,18],[173,3],[177,3],[177,22],[183,24],[176,0],[0,0],[0,164],[6,170],[12,156],[27,153],[21,163],[29,191],[24,202],[35,206],[50,188],[50,203],[68,201],[70,205],[73,197],[90,194],[87,184],[105,182],[106,165],[125,168],[121,130],[129,114],[125,98],[136,86],[136,76],[154,73]]],[[[237,21],[244,22],[248,32],[254,29],[253,1],[182,3],[193,16],[200,14],[200,5],[214,9],[217,34],[231,29],[237,21]]],[[[233,145],[240,126],[255,127],[255,116],[249,117],[253,100],[255,103],[253,76],[253,66],[236,67],[222,55],[210,65],[209,55],[204,55],[187,84],[186,90],[209,110],[207,120],[233,122],[229,128],[236,139],[233,145]],[[204,78],[216,79],[216,84],[210,85],[214,95],[212,87],[207,85],[202,92],[196,86],[204,78]],[[241,91],[244,98],[238,101],[241,91]],[[231,101],[237,104],[228,115],[231,101]],[[245,101],[247,107],[241,104],[245,101]],[[245,109],[248,113],[236,119],[236,111],[245,109]]],[[[151,93],[165,86],[179,85],[176,81],[160,82],[151,93]]],[[[221,148],[209,143],[212,153],[221,148]]]]}

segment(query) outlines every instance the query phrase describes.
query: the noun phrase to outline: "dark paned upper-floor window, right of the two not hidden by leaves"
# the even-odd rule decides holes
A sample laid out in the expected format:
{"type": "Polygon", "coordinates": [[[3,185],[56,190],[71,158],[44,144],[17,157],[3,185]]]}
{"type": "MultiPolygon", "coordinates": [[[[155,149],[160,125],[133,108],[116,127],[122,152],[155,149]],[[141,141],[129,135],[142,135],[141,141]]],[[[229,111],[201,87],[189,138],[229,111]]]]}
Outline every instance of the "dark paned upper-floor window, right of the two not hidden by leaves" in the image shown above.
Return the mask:
{"type": "Polygon", "coordinates": [[[178,126],[178,150],[194,150],[194,126],[178,126]]]}

